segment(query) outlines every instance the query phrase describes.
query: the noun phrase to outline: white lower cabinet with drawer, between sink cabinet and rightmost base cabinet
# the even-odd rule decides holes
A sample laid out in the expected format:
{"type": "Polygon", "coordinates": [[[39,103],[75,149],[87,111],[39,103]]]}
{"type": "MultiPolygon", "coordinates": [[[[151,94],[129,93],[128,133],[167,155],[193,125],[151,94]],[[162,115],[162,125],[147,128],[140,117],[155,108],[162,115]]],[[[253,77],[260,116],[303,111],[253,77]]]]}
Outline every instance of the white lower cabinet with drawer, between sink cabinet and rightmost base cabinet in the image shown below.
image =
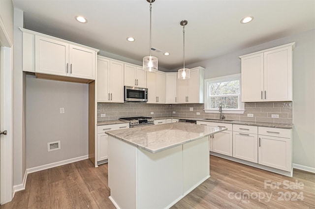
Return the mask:
{"type": "Polygon", "coordinates": [[[256,126],[233,125],[233,157],[258,163],[256,126]]]}

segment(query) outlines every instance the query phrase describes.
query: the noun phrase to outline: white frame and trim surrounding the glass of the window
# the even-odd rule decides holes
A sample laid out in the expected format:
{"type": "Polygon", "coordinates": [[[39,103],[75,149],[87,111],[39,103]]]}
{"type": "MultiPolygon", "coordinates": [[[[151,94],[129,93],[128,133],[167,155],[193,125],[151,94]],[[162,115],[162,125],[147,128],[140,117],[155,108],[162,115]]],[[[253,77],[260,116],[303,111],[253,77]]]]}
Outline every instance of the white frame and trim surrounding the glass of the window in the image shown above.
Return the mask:
{"type": "Polygon", "coordinates": [[[208,78],[204,80],[204,111],[206,113],[219,113],[219,108],[209,108],[208,105],[208,82],[223,82],[231,79],[240,79],[240,107],[239,109],[224,109],[222,108],[222,113],[236,113],[236,114],[244,114],[245,111],[245,103],[241,102],[241,74],[233,74],[228,76],[222,76],[217,78],[208,78]]]}

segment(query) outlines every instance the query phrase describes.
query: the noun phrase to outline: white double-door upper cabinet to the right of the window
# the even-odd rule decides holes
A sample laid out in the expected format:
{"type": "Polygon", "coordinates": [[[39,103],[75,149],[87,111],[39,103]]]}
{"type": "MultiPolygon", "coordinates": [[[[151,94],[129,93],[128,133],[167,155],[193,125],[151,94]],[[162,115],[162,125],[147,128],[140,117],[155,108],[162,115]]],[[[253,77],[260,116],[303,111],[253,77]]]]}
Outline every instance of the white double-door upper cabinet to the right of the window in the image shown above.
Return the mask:
{"type": "Polygon", "coordinates": [[[240,56],[242,102],[292,101],[295,43],[240,56]]]}

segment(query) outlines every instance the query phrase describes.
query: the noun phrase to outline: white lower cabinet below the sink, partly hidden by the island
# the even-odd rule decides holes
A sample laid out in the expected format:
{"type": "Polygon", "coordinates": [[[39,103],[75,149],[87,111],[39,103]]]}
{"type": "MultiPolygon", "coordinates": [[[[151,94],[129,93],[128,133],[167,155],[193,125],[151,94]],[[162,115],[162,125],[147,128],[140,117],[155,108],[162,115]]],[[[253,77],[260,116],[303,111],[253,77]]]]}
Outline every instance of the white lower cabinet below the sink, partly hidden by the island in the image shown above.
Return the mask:
{"type": "Polygon", "coordinates": [[[233,154],[232,124],[203,122],[203,121],[197,121],[197,124],[205,125],[205,126],[227,128],[227,131],[222,131],[220,133],[210,135],[209,149],[211,152],[232,157],[232,154],[233,154]]]}

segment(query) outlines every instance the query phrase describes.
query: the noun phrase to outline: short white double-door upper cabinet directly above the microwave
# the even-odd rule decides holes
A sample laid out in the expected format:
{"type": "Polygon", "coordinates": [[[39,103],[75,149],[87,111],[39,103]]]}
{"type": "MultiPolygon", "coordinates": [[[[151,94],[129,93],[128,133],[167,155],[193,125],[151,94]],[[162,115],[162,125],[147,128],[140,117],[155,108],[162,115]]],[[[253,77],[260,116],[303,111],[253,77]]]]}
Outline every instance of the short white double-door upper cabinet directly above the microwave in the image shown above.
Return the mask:
{"type": "Polygon", "coordinates": [[[124,73],[125,86],[147,88],[146,71],[144,71],[141,67],[125,64],[124,73]]]}

